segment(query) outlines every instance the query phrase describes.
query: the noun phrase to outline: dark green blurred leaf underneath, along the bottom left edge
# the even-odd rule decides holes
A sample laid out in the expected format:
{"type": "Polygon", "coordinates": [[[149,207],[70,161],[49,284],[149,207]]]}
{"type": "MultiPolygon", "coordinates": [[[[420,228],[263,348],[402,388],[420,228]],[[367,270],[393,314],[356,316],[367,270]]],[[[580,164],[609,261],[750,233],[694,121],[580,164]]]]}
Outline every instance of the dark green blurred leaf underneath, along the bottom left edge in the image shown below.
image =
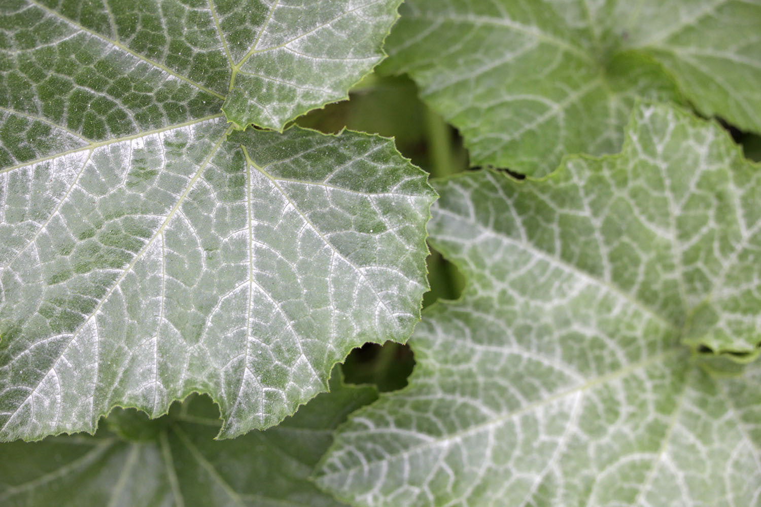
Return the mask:
{"type": "Polygon", "coordinates": [[[307,477],[346,414],[377,398],[374,388],[342,385],[314,398],[279,426],[215,442],[218,410],[206,397],[174,404],[148,421],[116,409],[97,435],[0,445],[0,504],[341,505],[307,477]]]}

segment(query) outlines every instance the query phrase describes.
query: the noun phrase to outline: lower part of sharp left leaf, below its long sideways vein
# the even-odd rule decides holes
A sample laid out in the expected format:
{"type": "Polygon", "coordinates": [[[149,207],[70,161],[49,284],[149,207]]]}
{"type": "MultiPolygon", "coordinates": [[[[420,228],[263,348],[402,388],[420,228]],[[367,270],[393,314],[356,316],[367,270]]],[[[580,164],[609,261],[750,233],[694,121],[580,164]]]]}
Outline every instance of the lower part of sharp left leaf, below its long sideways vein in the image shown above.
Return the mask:
{"type": "Polygon", "coordinates": [[[158,417],[278,423],[366,341],[403,341],[435,198],[393,141],[207,119],[0,172],[0,439],[158,417]]]}

